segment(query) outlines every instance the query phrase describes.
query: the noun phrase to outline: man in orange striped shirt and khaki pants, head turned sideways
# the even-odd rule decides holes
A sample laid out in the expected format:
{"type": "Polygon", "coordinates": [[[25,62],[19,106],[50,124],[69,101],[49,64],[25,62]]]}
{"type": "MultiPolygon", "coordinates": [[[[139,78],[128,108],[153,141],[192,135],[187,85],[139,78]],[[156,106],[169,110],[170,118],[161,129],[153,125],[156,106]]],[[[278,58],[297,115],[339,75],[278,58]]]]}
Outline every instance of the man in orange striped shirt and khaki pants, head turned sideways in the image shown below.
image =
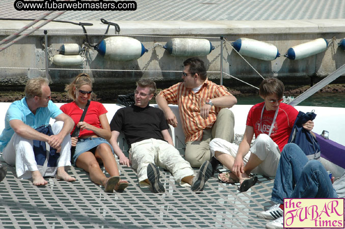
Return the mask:
{"type": "Polygon", "coordinates": [[[219,137],[230,142],[234,136],[234,116],[229,109],[236,98],[224,86],[207,79],[204,62],[190,58],[183,62],[183,82],[163,90],[156,97],[158,106],[170,125],[177,119],[168,104],[177,104],[185,136],[185,159],[192,167],[210,160],[209,142],[219,137]]]}

